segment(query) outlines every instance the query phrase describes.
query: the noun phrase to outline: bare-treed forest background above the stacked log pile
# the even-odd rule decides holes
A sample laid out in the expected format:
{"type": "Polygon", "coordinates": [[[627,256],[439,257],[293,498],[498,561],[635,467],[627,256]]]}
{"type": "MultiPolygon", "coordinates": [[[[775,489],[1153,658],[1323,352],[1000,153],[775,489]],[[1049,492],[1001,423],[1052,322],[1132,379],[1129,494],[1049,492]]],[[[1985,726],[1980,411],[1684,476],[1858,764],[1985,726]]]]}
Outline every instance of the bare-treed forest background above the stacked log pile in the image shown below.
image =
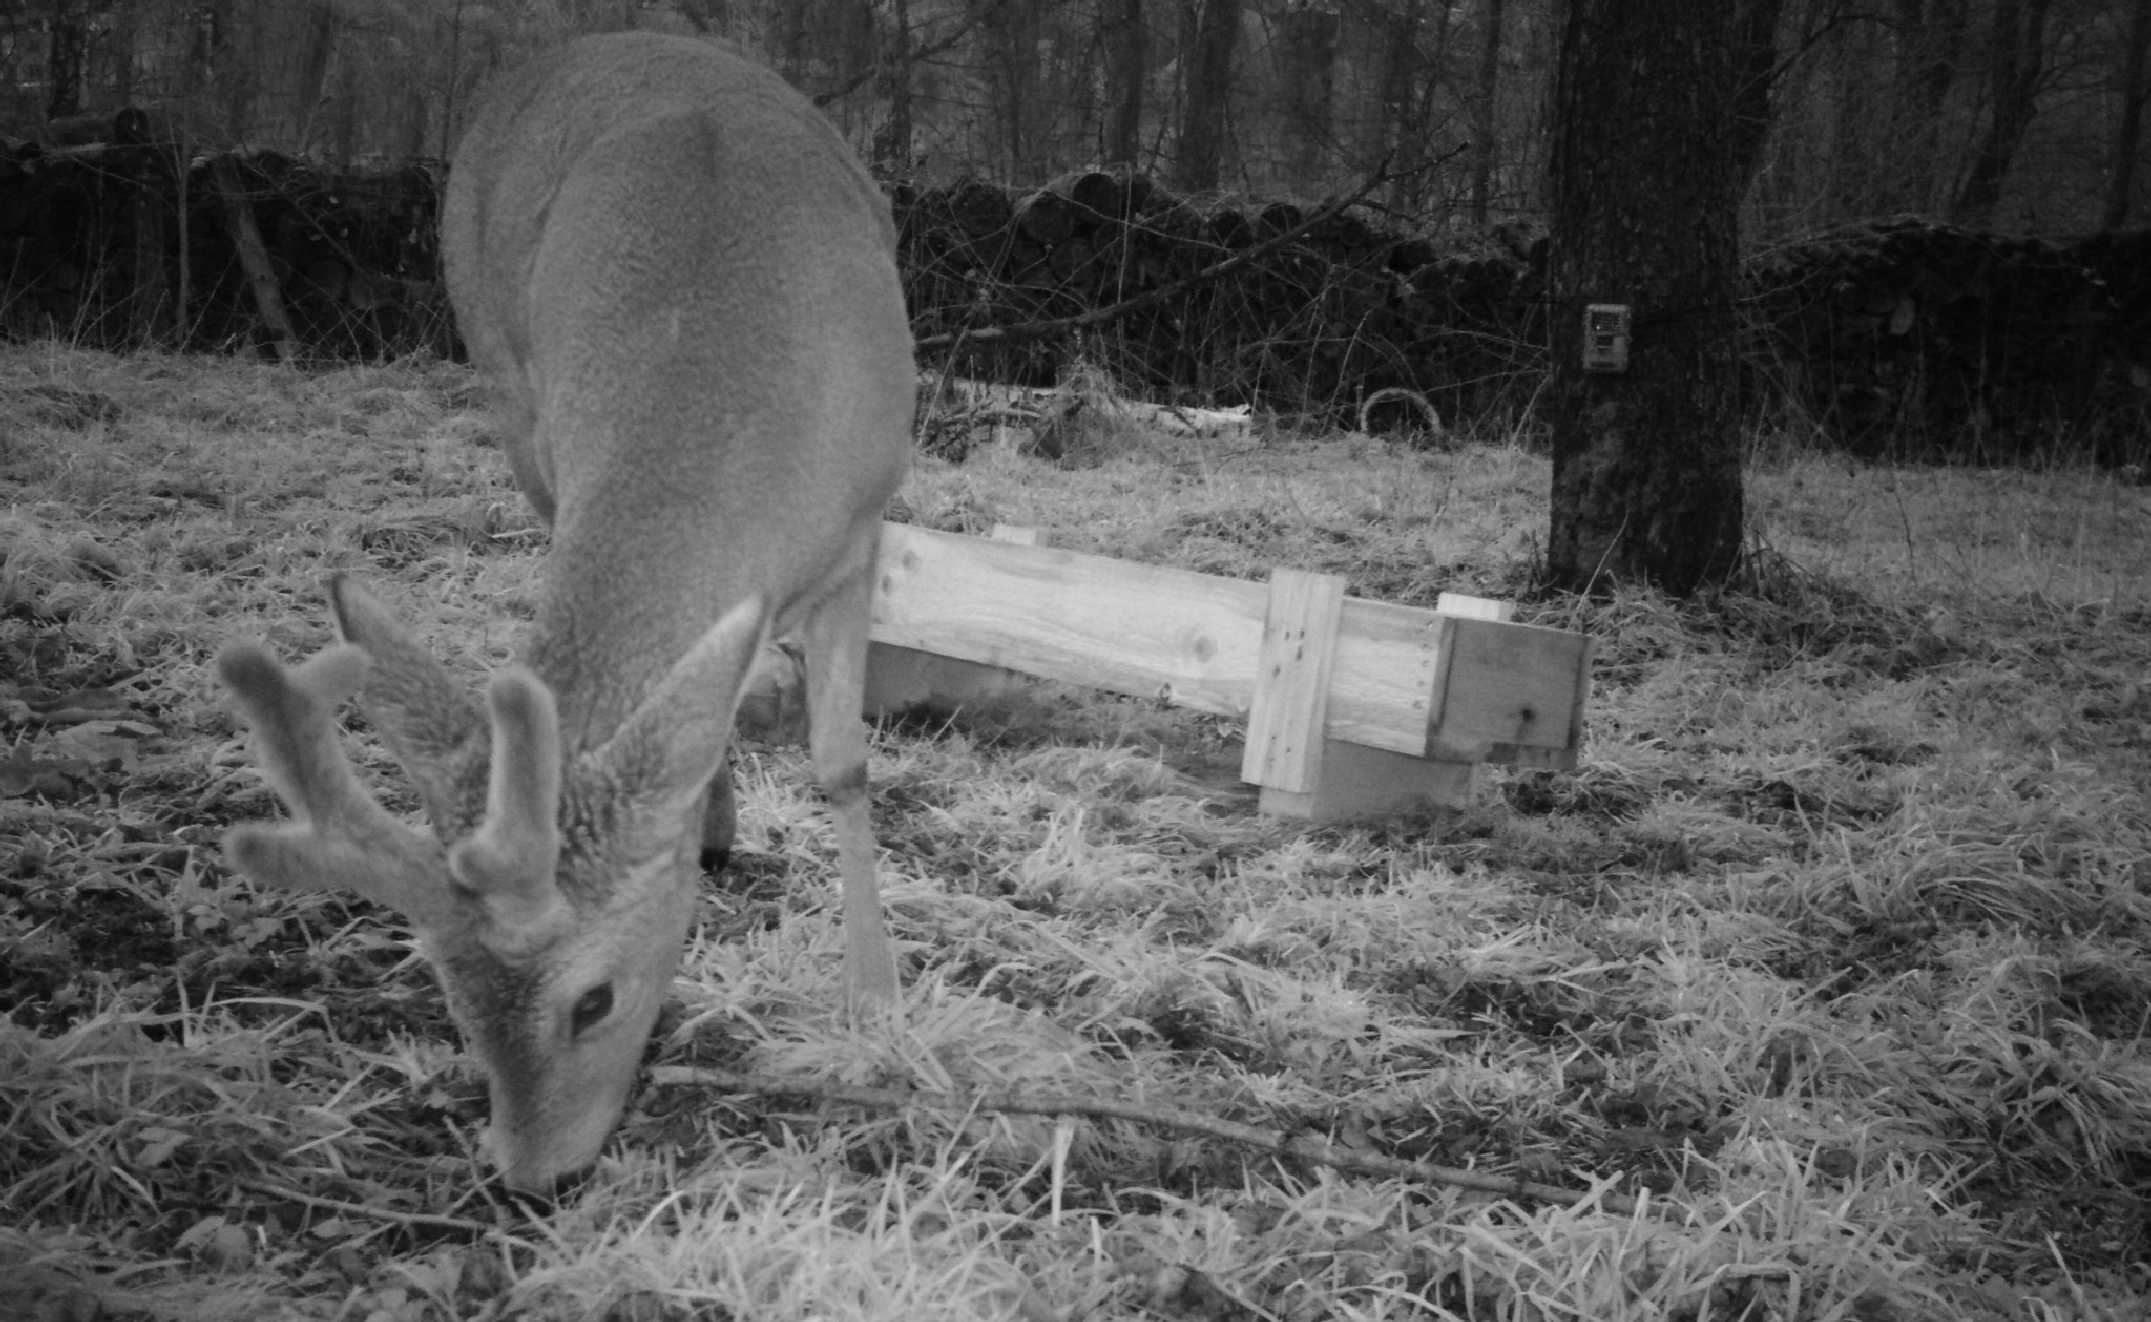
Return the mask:
{"type": "MultiPolygon", "coordinates": [[[[2134,0],[1734,0],[1768,142],[1751,243],[1914,213],[2022,234],[2140,219],[2134,0]]],[[[0,135],[138,105],[202,150],[447,155],[497,67],[613,26],[721,34],[809,90],[878,174],[1035,185],[1129,166],[1319,198],[1383,163],[1426,226],[1538,221],[1559,0],[13,0],[0,135]]],[[[1671,163],[1678,168],[1678,163],[1671,163]]]]}

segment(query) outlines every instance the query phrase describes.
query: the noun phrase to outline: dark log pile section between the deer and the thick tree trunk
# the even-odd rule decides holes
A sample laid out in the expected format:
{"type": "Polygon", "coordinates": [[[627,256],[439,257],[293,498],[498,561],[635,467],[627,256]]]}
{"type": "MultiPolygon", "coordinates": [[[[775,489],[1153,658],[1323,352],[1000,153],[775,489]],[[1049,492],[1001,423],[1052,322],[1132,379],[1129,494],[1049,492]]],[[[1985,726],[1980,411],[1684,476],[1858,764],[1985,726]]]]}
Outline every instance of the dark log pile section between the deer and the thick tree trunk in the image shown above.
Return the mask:
{"type": "Polygon", "coordinates": [[[1544,264],[1523,230],[1437,243],[1351,209],[1185,286],[1310,213],[1091,170],[1026,193],[981,181],[899,191],[897,215],[914,329],[946,340],[966,376],[1045,385],[1086,361],[1157,400],[1344,423],[1387,387],[1443,417],[1514,413],[1544,370],[1544,264]],[[1123,303],[1099,325],[966,340],[1123,303]]]}

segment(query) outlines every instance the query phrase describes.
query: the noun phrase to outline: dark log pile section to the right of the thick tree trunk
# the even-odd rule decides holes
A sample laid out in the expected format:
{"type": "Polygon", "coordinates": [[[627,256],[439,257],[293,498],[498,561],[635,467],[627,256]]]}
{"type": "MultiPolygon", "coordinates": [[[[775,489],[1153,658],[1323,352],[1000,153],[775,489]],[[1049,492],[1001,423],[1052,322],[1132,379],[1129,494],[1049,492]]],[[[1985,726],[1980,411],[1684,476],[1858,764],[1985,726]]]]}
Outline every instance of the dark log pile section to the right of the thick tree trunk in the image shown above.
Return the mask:
{"type": "Polygon", "coordinates": [[[1751,393],[1854,454],[2151,464],[2151,230],[2048,243],[1899,217],[1744,273],[1751,393]]]}

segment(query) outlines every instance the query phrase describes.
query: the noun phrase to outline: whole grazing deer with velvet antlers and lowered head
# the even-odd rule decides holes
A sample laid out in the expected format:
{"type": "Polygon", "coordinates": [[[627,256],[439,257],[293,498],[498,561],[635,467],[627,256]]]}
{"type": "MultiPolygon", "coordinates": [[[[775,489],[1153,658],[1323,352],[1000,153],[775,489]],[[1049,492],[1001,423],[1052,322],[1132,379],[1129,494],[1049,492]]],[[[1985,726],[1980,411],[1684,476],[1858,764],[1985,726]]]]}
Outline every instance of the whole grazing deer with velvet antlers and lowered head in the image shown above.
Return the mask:
{"type": "Polygon", "coordinates": [[[901,1015],[863,686],[912,335],[860,159],[774,71],[686,37],[585,37],[497,80],[441,254],[551,527],[536,615],[482,701],[351,574],[312,658],[228,645],[217,671],[290,819],[234,828],[226,856],[409,920],[486,1075],[484,1152],[549,1195],[624,1116],[729,840],[740,692],[781,638],[835,828],[845,1006],[901,1015]],[[346,699],[430,830],[361,785],[346,699]]]}

